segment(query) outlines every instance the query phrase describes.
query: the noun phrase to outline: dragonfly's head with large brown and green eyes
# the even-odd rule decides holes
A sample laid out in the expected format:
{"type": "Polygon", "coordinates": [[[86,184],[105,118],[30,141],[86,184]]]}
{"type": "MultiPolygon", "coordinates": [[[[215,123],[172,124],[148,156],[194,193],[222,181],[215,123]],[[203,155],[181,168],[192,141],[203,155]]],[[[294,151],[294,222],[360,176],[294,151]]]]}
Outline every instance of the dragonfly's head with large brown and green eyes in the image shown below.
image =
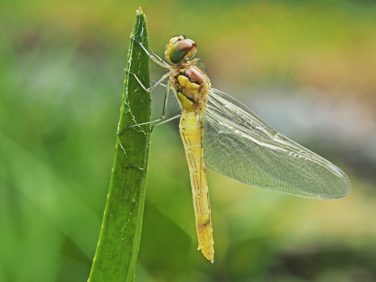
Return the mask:
{"type": "Polygon", "coordinates": [[[166,60],[177,65],[196,53],[197,44],[183,35],[172,37],[166,46],[166,60]]]}

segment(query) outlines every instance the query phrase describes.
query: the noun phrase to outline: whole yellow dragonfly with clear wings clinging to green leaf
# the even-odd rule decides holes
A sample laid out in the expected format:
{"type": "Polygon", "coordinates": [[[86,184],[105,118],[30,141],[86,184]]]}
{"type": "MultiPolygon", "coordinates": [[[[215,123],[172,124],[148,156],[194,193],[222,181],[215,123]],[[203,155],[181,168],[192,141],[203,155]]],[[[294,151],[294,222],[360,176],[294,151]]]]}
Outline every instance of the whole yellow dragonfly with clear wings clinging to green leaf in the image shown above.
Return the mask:
{"type": "Polygon", "coordinates": [[[333,163],[277,132],[241,102],[213,88],[197,66],[197,44],[183,35],[172,37],[162,60],[152,49],[138,43],[158,65],[169,70],[157,85],[166,87],[161,118],[154,126],[180,117],[180,135],[190,170],[196,231],[201,249],[214,262],[214,239],[205,169],[233,180],[268,190],[317,199],[340,199],[351,189],[349,178],[333,163]],[[167,83],[164,81],[168,78],[167,83]],[[173,92],[181,113],[164,120],[169,93],[173,92]]]}

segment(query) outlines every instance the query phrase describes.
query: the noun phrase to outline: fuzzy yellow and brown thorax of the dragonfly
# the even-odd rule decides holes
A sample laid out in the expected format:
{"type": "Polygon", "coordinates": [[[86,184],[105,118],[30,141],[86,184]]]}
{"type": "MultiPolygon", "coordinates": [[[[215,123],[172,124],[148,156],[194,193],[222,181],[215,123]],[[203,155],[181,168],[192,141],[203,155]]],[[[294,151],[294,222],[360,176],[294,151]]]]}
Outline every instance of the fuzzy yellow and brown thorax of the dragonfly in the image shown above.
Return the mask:
{"type": "Polygon", "coordinates": [[[170,73],[170,83],[177,92],[177,98],[184,111],[201,114],[205,111],[206,94],[211,88],[210,80],[196,66],[189,62],[170,73]]]}

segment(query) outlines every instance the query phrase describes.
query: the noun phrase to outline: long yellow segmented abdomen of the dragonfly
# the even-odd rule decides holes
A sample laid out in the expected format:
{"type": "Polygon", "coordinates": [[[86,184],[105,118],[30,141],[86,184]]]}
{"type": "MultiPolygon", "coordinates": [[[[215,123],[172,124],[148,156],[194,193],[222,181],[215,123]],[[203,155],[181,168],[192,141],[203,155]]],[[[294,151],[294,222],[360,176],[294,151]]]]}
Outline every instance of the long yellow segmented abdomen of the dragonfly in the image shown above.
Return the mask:
{"type": "Polygon", "coordinates": [[[204,123],[199,114],[183,111],[180,119],[180,135],[191,174],[193,205],[199,248],[211,262],[214,261],[214,241],[211,223],[208,182],[203,155],[202,137],[204,123]]]}

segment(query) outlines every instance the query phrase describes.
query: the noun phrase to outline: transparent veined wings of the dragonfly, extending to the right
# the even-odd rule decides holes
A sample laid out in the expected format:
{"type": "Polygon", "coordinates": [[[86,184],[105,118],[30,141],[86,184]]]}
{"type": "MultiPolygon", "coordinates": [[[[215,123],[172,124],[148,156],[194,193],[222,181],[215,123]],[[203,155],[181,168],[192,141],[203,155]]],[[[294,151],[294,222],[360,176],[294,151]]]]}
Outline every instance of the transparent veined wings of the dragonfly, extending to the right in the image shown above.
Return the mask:
{"type": "Polygon", "coordinates": [[[203,113],[205,166],[240,182],[292,195],[340,199],[340,168],[288,139],[229,95],[212,89],[203,113]]]}

